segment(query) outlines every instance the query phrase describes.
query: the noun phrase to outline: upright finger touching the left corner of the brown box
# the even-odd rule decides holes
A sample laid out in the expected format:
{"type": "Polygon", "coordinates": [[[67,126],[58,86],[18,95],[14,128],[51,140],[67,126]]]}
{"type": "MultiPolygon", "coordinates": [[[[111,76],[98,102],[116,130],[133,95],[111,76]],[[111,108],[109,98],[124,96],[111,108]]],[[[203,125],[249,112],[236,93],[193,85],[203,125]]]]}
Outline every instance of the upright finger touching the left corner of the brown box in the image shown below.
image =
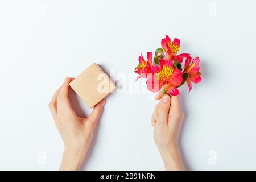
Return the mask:
{"type": "Polygon", "coordinates": [[[71,78],[66,77],[63,85],[61,86],[60,93],[57,96],[57,109],[63,111],[72,111],[72,113],[74,113],[68,98],[68,84],[71,82],[71,80],[71,78]]]}

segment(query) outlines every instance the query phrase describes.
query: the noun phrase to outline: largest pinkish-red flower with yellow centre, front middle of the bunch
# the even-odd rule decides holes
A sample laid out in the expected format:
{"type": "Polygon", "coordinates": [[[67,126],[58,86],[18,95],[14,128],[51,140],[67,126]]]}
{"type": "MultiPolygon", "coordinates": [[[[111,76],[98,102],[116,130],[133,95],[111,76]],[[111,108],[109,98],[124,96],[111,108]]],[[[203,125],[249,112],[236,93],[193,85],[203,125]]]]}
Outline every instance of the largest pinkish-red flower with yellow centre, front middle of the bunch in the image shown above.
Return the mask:
{"type": "Polygon", "coordinates": [[[182,72],[172,66],[171,60],[160,60],[160,68],[158,66],[152,67],[151,75],[147,80],[147,88],[151,92],[159,92],[163,87],[166,93],[171,96],[180,94],[176,88],[183,82],[182,72]]]}

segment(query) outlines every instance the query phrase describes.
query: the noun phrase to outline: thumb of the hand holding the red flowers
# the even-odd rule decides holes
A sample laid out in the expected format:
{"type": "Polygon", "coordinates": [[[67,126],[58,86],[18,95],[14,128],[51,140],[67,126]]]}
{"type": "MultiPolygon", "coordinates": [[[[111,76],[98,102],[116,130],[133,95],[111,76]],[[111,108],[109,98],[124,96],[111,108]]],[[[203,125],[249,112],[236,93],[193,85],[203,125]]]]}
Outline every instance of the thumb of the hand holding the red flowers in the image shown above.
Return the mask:
{"type": "Polygon", "coordinates": [[[158,123],[160,125],[168,125],[168,113],[171,106],[171,97],[168,95],[164,95],[159,102],[159,115],[158,115],[158,123]]]}

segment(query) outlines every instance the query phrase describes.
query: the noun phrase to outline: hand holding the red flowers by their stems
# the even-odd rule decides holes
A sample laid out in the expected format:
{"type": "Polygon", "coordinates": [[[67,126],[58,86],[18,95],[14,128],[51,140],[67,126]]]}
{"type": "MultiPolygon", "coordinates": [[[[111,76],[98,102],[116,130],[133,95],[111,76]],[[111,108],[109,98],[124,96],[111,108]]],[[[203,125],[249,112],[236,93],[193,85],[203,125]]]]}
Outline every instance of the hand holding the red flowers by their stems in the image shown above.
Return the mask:
{"type": "Polygon", "coordinates": [[[152,114],[154,139],[162,156],[166,170],[184,170],[177,140],[184,114],[180,110],[179,97],[159,93],[155,99],[160,100],[152,114]]]}

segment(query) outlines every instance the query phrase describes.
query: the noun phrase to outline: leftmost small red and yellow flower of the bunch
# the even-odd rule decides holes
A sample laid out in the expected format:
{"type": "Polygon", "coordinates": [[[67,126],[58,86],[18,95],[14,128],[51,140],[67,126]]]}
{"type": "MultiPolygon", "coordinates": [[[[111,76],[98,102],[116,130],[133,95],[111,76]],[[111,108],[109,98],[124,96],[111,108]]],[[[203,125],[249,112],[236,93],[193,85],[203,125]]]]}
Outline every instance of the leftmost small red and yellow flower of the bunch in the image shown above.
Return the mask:
{"type": "Polygon", "coordinates": [[[153,61],[152,61],[152,52],[147,52],[147,60],[144,60],[144,57],[139,56],[139,64],[138,66],[135,68],[135,73],[138,73],[139,76],[136,78],[136,80],[138,80],[138,78],[146,78],[148,73],[151,73],[151,68],[153,66],[153,61]]]}

